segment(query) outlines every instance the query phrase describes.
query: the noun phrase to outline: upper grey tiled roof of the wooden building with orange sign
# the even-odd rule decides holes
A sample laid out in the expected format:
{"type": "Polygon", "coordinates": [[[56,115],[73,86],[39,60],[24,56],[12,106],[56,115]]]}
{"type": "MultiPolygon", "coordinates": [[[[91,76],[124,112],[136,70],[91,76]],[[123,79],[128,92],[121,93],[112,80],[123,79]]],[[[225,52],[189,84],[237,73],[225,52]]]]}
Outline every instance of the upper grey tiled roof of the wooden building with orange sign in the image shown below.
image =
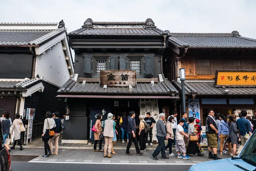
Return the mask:
{"type": "Polygon", "coordinates": [[[232,33],[170,33],[169,42],[178,48],[256,48],[256,39],[232,33]]]}

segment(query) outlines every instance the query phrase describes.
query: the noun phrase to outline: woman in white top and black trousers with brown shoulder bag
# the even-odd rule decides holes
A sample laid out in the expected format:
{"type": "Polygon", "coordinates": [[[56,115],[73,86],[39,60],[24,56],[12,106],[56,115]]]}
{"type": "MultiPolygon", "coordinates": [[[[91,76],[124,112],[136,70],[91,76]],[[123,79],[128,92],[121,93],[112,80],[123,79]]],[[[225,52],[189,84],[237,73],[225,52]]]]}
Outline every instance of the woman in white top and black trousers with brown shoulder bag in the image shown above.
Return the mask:
{"type": "Polygon", "coordinates": [[[45,114],[45,117],[46,117],[46,119],[44,120],[44,130],[43,130],[43,134],[42,134],[42,140],[44,142],[44,156],[42,156],[42,157],[49,157],[52,154],[52,151],[50,150],[48,141],[54,135],[54,131],[52,130],[52,128],[55,128],[56,124],[55,124],[54,119],[52,119],[51,112],[48,111],[45,114]],[[52,133],[53,133],[53,135],[52,135],[52,133]]]}

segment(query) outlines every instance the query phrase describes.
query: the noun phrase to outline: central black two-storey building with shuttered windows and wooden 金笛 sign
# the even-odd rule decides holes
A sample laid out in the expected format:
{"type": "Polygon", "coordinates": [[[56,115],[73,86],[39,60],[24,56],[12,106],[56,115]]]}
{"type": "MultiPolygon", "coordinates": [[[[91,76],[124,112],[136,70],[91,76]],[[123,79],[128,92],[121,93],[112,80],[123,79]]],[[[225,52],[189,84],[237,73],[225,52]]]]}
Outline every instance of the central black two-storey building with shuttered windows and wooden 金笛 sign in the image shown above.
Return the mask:
{"type": "MultiPolygon", "coordinates": [[[[119,115],[134,110],[158,119],[175,109],[178,91],[164,77],[163,51],[168,31],[145,22],[95,22],[88,18],[68,34],[75,51],[75,75],[59,90],[67,98],[69,116],[62,142],[93,141],[98,113],[119,115]]],[[[155,136],[155,135],[154,135],[155,136]]]]}

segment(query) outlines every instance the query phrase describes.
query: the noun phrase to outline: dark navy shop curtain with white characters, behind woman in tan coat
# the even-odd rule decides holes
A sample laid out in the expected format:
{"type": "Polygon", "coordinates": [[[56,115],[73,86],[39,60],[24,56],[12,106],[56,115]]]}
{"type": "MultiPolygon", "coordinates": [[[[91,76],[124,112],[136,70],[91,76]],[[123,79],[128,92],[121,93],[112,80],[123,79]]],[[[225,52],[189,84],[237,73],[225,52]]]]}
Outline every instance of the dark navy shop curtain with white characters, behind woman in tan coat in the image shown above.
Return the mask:
{"type": "Polygon", "coordinates": [[[102,114],[102,126],[104,121],[108,118],[108,113],[110,113],[110,107],[109,106],[103,106],[99,107],[99,105],[92,106],[91,107],[91,114],[90,114],[90,141],[94,141],[94,132],[92,131],[93,125],[96,122],[96,118],[98,114],[102,114]]]}

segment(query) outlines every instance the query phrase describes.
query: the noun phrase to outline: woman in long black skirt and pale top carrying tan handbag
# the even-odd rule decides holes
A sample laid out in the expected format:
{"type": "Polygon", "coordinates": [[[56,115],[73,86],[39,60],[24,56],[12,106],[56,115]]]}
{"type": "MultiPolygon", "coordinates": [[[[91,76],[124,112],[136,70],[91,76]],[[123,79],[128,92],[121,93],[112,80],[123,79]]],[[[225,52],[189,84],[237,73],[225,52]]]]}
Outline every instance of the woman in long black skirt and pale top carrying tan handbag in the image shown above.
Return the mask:
{"type": "MultiPolygon", "coordinates": [[[[201,151],[197,145],[197,142],[199,141],[199,136],[196,134],[198,131],[195,130],[194,125],[195,118],[189,117],[189,145],[187,149],[188,154],[198,154],[198,156],[204,156],[204,154],[201,154],[201,151]]],[[[187,154],[187,155],[188,155],[187,154]]]]}

